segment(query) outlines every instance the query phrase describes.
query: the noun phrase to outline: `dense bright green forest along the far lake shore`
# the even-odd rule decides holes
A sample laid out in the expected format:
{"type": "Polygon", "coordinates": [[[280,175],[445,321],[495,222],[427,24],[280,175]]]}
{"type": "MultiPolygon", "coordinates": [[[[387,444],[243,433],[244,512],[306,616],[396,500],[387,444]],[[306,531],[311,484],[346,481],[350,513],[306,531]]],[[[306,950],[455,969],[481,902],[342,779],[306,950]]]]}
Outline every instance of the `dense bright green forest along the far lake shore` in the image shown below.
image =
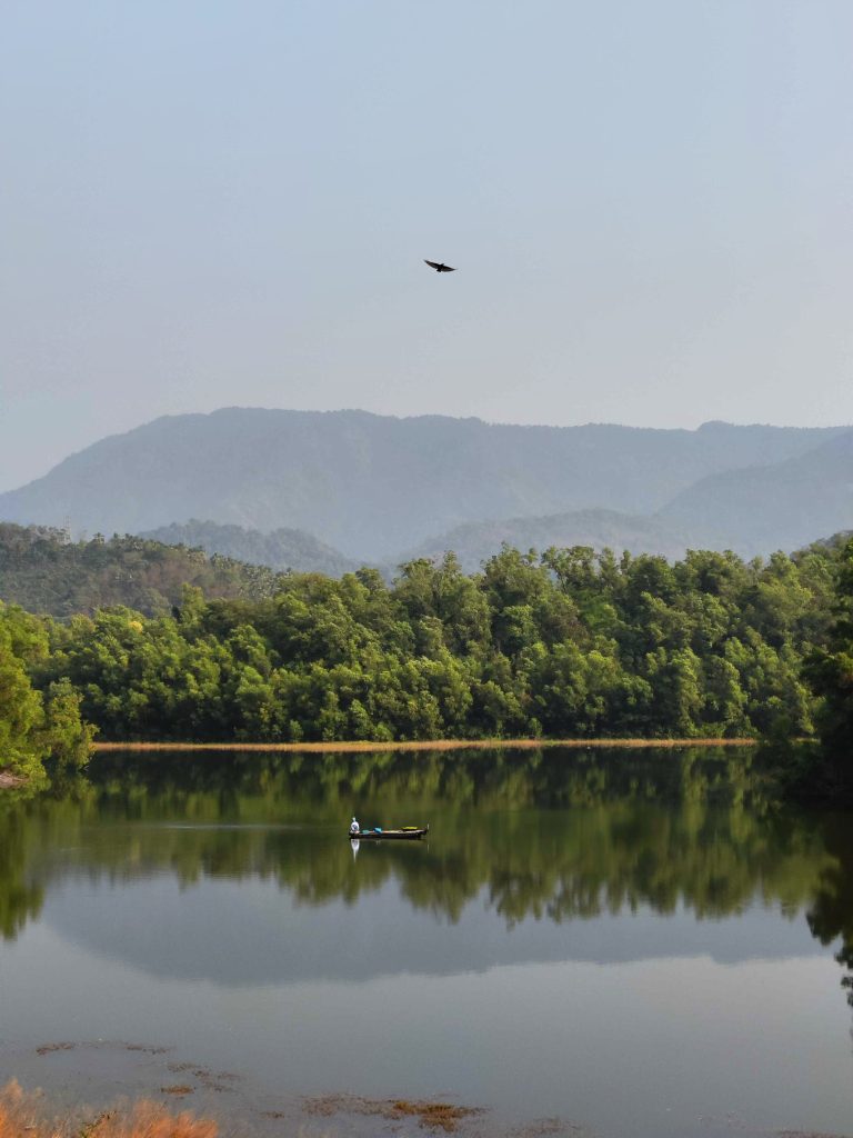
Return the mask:
{"type": "MultiPolygon", "coordinates": [[[[173,551],[174,552],[174,551],[173,551]]],[[[264,583],[266,585],[266,582],[264,583]]],[[[504,547],[147,616],[0,609],[9,769],[108,741],[755,737],[851,724],[853,541],[673,563],[504,547]]]]}

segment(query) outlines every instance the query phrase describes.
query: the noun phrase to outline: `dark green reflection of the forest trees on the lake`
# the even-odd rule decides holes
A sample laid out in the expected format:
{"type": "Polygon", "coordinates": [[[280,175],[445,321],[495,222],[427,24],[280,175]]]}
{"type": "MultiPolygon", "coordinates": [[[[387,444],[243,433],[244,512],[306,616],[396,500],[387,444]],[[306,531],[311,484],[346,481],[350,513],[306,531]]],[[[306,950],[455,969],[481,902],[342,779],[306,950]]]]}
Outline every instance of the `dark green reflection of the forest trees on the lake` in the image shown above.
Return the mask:
{"type": "Polygon", "coordinates": [[[640,905],[715,917],[756,894],[793,914],[820,901],[819,882],[828,897],[851,888],[836,849],[775,808],[732,750],[105,756],[7,815],[6,937],[72,873],[266,877],[305,904],[395,879],[416,908],[456,921],[483,897],[507,924],[640,905]],[[386,844],[354,865],[353,809],[367,824],[431,822],[429,849],[386,844]],[[59,861],[60,848],[77,852],[59,861]]]}

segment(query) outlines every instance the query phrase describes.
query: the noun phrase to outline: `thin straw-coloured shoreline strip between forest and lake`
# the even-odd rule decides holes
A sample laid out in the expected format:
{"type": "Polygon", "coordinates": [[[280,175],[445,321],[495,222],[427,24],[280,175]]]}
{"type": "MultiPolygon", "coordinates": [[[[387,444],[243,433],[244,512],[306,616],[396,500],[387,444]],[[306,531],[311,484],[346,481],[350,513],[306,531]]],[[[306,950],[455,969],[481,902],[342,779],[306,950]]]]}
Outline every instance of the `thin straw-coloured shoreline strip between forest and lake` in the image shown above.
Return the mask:
{"type": "Polygon", "coordinates": [[[603,750],[674,749],[679,747],[755,747],[757,739],[439,739],[409,740],[407,742],[371,742],[350,740],[339,743],[93,743],[92,753],[109,751],[308,751],[329,753],[359,753],[370,751],[472,751],[472,750],[537,750],[544,747],[565,747],[573,750],[587,748],[603,750]]]}

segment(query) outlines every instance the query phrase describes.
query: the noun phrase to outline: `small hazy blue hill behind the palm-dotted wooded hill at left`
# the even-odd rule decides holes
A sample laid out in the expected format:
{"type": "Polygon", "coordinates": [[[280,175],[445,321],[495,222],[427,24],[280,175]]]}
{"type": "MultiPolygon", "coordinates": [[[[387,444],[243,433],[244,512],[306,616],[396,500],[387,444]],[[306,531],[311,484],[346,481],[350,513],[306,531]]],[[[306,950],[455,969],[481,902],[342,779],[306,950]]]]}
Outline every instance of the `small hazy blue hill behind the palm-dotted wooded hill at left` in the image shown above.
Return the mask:
{"type": "Polygon", "coordinates": [[[270,566],[272,569],[322,572],[328,577],[353,572],[361,564],[301,529],[275,529],[272,534],[262,534],[257,529],[218,526],[215,521],[197,521],[193,518],[184,525],[173,522],[140,536],[164,545],[194,546],[207,553],[220,553],[235,561],[270,566]]]}

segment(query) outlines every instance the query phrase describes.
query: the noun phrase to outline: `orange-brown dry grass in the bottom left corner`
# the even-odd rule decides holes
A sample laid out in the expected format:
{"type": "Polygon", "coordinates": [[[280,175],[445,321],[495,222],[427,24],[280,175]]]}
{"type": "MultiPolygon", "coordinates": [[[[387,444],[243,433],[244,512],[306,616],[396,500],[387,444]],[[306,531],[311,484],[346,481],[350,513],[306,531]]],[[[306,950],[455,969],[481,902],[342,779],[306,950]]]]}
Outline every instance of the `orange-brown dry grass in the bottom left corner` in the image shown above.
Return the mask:
{"type": "Polygon", "coordinates": [[[88,1120],[47,1118],[38,1095],[10,1082],[0,1091],[0,1138],[216,1138],[215,1122],[172,1114],[158,1103],[139,1102],[88,1120]]]}

